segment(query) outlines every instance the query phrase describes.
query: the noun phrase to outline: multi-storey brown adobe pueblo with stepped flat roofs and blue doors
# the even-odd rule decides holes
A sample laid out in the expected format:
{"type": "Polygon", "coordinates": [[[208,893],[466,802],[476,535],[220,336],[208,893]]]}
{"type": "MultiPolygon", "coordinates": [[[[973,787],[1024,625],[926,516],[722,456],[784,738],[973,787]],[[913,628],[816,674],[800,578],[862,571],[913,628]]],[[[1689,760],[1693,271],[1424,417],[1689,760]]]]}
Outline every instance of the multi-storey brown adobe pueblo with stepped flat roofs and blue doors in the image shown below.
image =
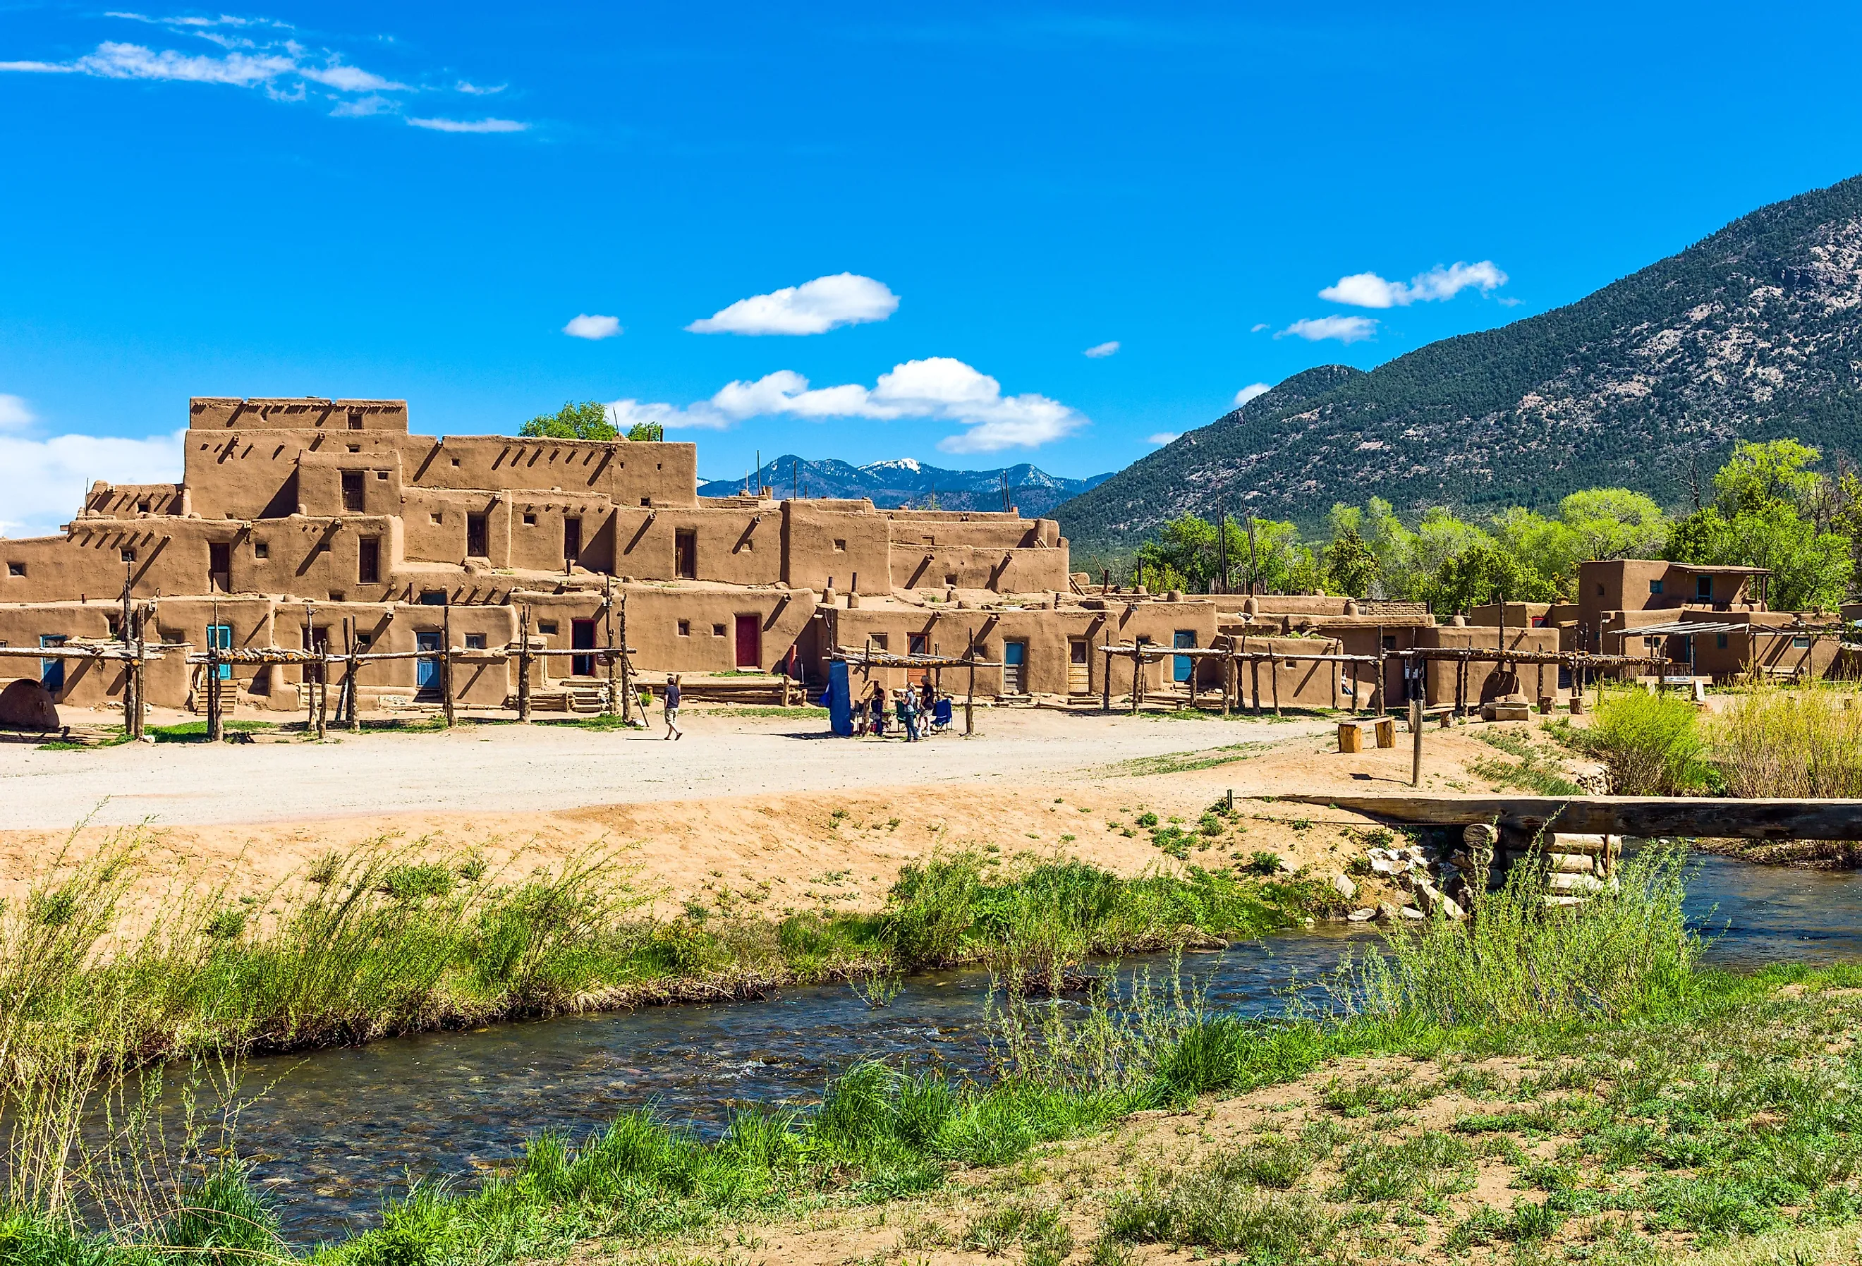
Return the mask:
{"type": "Polygon", "coordinates": [[[1586,564],[1581,609],[1437,624],[1419,603],[1093,585],[1056,521],[1013,510],[700,497],[696,482],[691,443],[430,438],[408,432],[404,400],[194,398],[181,482],[99,482],[61,534],[0,540],[0,681],[15,683],[0,724],[7,700],[34,728],[58,704],[121,707],[136,678],[108,648],[125,616],[156,648],[143,702],[192,711],[209,694],[300,711],[315,670],[279,659],[318,650],[380,655],[350,665],[359,711],[441,694],[596,711],[613,706],[601,652],[620,642],[631,672],[691,674],[698,698],[817,687],[853,655],[884,685],[933,672],[916,657],[976,661],[944,685],[974,676],[985,698],[1104,706],[1136,676],[1140,698],[1382,709],[1545,700],[1570,683],[1560,653],[1642,653],[1681,622],[1715,639],[1693,657],[1715,674],[1793,661],[1804,637],[1773,637],[1788,620],[1748,598],[1752,573],[1586,564]],[[209,648],[229,663],[201,663],[209,648]]]}

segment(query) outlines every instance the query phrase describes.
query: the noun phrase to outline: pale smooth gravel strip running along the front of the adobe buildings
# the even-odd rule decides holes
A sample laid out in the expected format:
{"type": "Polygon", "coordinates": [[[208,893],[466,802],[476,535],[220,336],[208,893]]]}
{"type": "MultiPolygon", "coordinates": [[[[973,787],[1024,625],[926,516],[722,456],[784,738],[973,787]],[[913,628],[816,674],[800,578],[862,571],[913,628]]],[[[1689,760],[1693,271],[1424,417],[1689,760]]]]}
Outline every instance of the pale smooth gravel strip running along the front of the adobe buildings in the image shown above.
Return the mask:
{"type": "MultiPolygon", "coordinates": [[[[404,810],[564,810],[732,793],[1056,780],[1121,760],[1287,739],[1322,721],[1149,721],[985,711],[972,739],[832,739],[814,721],[685,715],[685,739],[570,726],[460,726],[315,743],[0,745],[0,828],[294,821],[404,810]]],[[[961,719],[959,719],[961,724],[961,719]]]]}

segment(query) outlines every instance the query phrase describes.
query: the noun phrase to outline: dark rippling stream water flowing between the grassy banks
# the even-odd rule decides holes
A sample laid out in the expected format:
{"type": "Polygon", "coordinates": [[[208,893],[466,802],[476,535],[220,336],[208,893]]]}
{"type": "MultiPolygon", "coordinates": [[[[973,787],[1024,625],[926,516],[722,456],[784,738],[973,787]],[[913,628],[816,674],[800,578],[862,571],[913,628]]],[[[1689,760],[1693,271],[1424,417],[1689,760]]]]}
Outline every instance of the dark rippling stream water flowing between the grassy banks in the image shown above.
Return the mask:
{"type": "MultiPolygon", "coordinates": [[[[1743,866],[1702,856],[1689,912],[1709,957],[1730,966],[1862,957],[1862,875],[1743,866]]],[[[1266,1013],[1302,979],[1374,933],[1326,925],[1188,955],[1182,974],[1210,1009],[1266,1013]]],[[[1164,959],[1130,966],[1167,972],[1164,959]]],[[[989,1054],[983,972],[914,976],[890,1007],[851,989],[788,989],[765,1002],[423,1033],[358,1048],[255,1059],[238,1149],[255,1162],[287,1234],[309,1244],[374,1221],[412,1178],[471,1178],[508,1164],[542,1130],[572,1138],[657,1106],[719,1132],[745,1104],[806,1108],[855,1059],[981,1071],[989,1054]]]]}

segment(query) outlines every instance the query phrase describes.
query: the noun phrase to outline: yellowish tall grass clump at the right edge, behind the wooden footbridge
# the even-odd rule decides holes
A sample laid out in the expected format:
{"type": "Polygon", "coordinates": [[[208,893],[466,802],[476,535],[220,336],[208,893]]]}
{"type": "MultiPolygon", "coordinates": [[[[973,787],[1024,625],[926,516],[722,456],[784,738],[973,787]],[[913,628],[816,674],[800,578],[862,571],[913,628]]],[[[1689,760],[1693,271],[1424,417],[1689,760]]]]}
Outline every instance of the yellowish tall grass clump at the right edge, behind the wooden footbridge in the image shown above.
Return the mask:
{"type": "Polygon", "coordinates": [[[1862,704],[1838,685],[1758,685],[1709,728],[1713,760],[1739,797],[1862,797],[1862,704]]]}

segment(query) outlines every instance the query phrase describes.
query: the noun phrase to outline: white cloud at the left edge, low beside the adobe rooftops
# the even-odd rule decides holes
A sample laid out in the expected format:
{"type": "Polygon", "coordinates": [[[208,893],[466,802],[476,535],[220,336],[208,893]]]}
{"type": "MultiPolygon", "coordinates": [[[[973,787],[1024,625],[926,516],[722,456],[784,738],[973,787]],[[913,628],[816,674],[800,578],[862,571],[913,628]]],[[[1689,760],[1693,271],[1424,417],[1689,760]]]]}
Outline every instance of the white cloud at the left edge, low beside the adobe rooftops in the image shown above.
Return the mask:
{"type": "MultiPolygon", "coordinates": [[[[17,402],[19,397],[4,397],[17,402]]],[[[22,410],[22,404],[9,404],[22,410]]],[[[0,469],[7,495],[0,501],[0,536],[48,536],[84,505],[89,480],[112,484],[171,484],[181,478],[181,445],[188,432],[125,439],[119,436],[0,434],[0,469]]]]}

